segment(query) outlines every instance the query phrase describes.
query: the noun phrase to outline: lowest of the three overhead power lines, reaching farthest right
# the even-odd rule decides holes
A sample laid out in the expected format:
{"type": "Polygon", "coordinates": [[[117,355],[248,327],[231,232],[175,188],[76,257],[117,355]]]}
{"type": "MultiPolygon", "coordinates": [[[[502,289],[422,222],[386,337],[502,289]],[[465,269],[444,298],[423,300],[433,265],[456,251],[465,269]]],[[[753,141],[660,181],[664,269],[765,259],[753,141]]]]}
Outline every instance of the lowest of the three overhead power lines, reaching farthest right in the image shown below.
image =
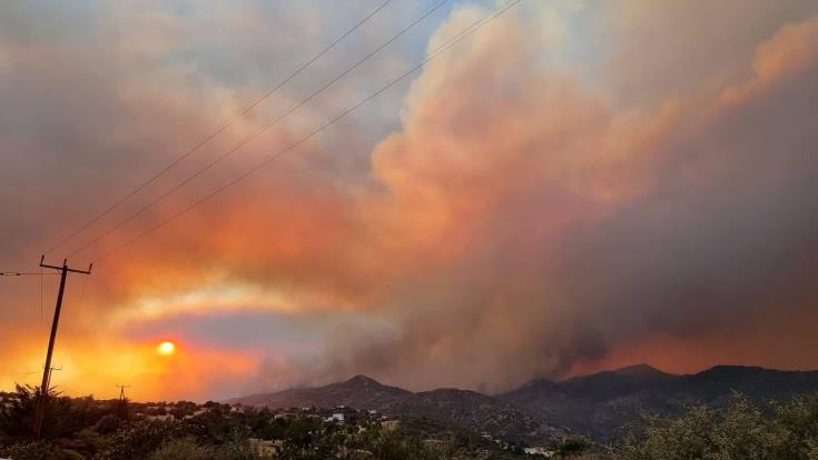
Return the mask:
{"type": "Polygon", "coordinates": [[[254,168],[245,171],[244,173],[242,173],[238,177],[234,178],[231,181],[225,183],[224,186],[221,186],[218,189],[214,190],[213,192],[208,193],[207,196],[205,196],[204,198],[201,198],[198,201],[194,202],[193,204],[188,206],[187,208],[183,209],[181,211],[175,213],[174,216],[169,217],[168,219],[165,219],[164,221],[159,222],[158,224],[148,228],[144,232],[137,234],[136,237],[134,237],[134,238],[125,241],[124,243],[115,247],[112,250],[110,250],[110,251],[104,253],[102,256],[98,257],[97,259],[95,259],[95,263],[96,262],[99,262],[99,261],[101,261],[101,260],[104,260],[104,259],[106,259],[106,258],[108,258],[110,256],[112,256],[114,253],[116,253],[116,252],[125,249],[126,247],[132,244],[134,242],[136,242],[136,241],[145,238],[149,233],[152,233],[154,231],[156,231],[156,230],[165,227],[166,224],[168,224],[171,221],[178,219],[183,214],[189,212],[191,209],[198,207],[199,204],[204,203],[205,201],[209,200],[210,198],[213,198],[213,197],[221,193],[226,189],[233,187],[234,184],[238,183],[239,181],[244,180],[245,178],[247,178],[250,174],[255,173],[256,171],[260,170],[265,166],[267,166],[270,162],[273,162],[275,159],[277,159],[277,158],[286,154],[290,150],[295,149],[296,147],[298,147],[302,143],[306,142],[307,140],[312,139],[317,133],[324,131],[329,126],[335,124],[337,121],[339,121],[341,119],[343,119],[347,114],[352,113],[353,111],[355,111],[361,106],[365,104],[366,102],[371,101],[372,99],[375,99],[376,97],[378,97],[381,93],[383,93],[387,89],[390,89],[393,86],[397,84],[397,82],[400,82],[401,80],[405,79],[410,74],[414,73],[417,69],[421,69],[427,62],[430,62],[431,60],[435,59],[436,57],[438,57],[443,52],[447,51],[454,44],[456,44],[457,42],[460,42],[461,40],[463,40],[465,37],[470,36],[471,33],[473,33],[476,30],[481,29],[483,26],[485,26],[486,23],[489,23],[489,21],[491,21],[492,19],[497,18],[499,16],[503,14],[504,12],[506,12],[507,10],[510,10],[511,8],[513,8],[514,6],[516,6],[518,3],[520,3],[521,1],[522,0],[513,0],[510,3],[506,3],[505,7],[501,7],[501,8],[496,9],[495,11],[492,11],[492,12],[489,12],[489,13],[484,14],[481,19],[479,19],[477,21],[475,21],[474,23],[472,23],[467,28],[465,28],[462,31],[460,31],[457,34],[455,34],[453,38],[451,38],[447,42],[445,42],[444,44],[442,44],[442,46],[437,47],[435,50],[433,50],[430,53],[430,56],[426,59],[424,59],[423,61],[421,61],[418,64],[416,64],[415,67],[413,67],[412,69],[410,69],[405,73],[401,74],[398,78],[392,80],[390,83],[387,83],[386,86],[382,87],[377,91],[373,92],[368,97],[364,98],[362,101],[359,101],[358,103],[356,103],[352,108],[345,110],[344,112],[342,112],[337,117],[333,118],[328,122],[322,124],[321,127],[318,127],[317,129],[315,129],[314,131],[312,131],[309,134],[303,137],[298,141],[289,144],[284,150],[280,150],[277,153],[274,153],[274,154],[267,157],[267,159],[265,159],[262,163],[259,163],[259,164],[255,166],[254,168]]]}

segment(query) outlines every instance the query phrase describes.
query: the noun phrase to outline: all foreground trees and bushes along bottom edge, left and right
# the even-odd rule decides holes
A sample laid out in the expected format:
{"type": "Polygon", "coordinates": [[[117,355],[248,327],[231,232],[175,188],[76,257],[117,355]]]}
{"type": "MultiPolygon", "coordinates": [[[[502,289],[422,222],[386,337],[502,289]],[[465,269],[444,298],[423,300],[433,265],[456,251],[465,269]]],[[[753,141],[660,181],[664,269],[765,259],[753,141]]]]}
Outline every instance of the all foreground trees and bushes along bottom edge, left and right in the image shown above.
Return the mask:
{"type": "MultiPolygon", "coordinates": [[[[345,411],[345,422],[324,421],[326,413],[269,410],[230,411],[210,403],[168,404],[180,419],[151,421],[120,417],[116,401],[70,399],[52,394],[47,441],[30,442],[37,390],[18,388],[17,401],[0,413],[7,433],[0,457],[16,460],[208,459],[256,460],[276,451],[283,460],[435,460],[520,458],[521,446],[502,450],[493,440],[434,420],[402,419],[382,426],[380,418],[345,411]],[[8,442],[7,440],[11,440],[8,442]],[[16,443],[13,443],[16,442],[16,443]]],[[[558,458],[600,458],[584,438],[554,446],[558,458]]],[[[269,457],[267,457],[269,458],[269,457]]],[[[818,460],[818,394],[759,408],[736,394],[725,410],[690,407],[679,417],[648,417],[641,430],[603,458],[611,460],[818,460]]]]}

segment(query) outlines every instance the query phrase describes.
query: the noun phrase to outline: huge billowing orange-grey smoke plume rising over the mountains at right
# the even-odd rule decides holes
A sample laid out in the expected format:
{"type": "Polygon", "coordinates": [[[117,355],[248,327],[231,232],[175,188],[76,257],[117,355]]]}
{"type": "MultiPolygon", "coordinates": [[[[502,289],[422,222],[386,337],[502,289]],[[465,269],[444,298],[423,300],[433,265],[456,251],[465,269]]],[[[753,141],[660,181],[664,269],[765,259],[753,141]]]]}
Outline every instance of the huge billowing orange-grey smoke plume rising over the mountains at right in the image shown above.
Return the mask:
{"type": "MultiPolygon", "coordinates": [[[[378,161],[394,156],[400,170],[382,176],[395,194],[411,193],[405,211],[415,200],[445,209],[450,221],[435,248],[462,251],[398,282],[390,303],[397,332],[344,338],[348,354],[327,363],[325,380],[365,371],[415,388],[501,390],[564,374],[578,362],[602,362],[650,334],[694,342],[723,333],[729,341],[747,333],[760,312],[776,312],[768,323],[773,336],[792,343],[789,353],[801,353],[800,340],[788,337],[788,318],[816,319],[815,49],[816,20],[786,27],[759,48],[751,79],[658,121],[645,118],[645,126],[661,124],[659,134],[630,144],[631,157],[613,164],[613,178],[597,174],[601,158],[593,153],[554,153],[553,146],[575,141],[574,132],[542,134],[556,123],[544,113],[553,111],[560,123],[587,130],[578,136],[629,134],[612,129],[613,118],[600,133],[587,116],[597,113],[593,107],[578,109],[588,101],[520,67],[514,89],[486,90],[501,88],[504,76],[486,73],[485,62],[509,63],[509,57],[480,43],[472,61],[449,62],[451,73],[433,66],[403,133],[376,151],[376,172],[378,161]],[[464,84],[462,76],[477,68],[483,79],[464,84]],[[572,111],[583,117],[573,120],[572,111]],[[529,124],[535,128],[526,131],[529,124]],[[457,142],[470,144],[469,157],[446,163],[441,157],[457,142]],[[551,174],[571,161],[591,162],[579,164],[589,170],[563,170],[568,178],[551,174]],[[481,174],[485,163],[491,178],[481,174]],[[574,173],[585,188],[571,183],[574,173]],[[631,190],[634,182],[640,187],[631,190]],[[594,197],[597,186],[618,196],[594,197]],[[424,188],[434,189],[433,200],[420,197],[424,188]]],[[[708,357],[694,361],[707,366],[708,357]]],[[[806,356],[799,362],[816,364],[806,356]]]]}

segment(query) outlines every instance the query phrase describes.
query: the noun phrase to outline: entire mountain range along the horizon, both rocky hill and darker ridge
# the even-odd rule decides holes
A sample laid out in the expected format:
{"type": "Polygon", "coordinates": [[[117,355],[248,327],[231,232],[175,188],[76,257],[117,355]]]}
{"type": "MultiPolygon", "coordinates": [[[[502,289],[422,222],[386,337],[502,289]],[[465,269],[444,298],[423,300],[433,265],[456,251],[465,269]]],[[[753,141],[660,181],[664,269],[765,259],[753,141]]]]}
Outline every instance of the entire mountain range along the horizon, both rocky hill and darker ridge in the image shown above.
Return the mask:
{"type": "Polygon", "coordinates": [[[818,391],[818,371],[717,366],[678,376],[640,364],[559,382],[538,379],[496,397],[459,389],[414,393],[357,376],[325,387],[229,402],[274,409],[346,406],[393,417],[425,417],[505,440],[540,443],[571,431],[611,440],[643,413],[671,414],[699,402],[723,407],[733,391],[757,403],[785,400],[818,391]]]}

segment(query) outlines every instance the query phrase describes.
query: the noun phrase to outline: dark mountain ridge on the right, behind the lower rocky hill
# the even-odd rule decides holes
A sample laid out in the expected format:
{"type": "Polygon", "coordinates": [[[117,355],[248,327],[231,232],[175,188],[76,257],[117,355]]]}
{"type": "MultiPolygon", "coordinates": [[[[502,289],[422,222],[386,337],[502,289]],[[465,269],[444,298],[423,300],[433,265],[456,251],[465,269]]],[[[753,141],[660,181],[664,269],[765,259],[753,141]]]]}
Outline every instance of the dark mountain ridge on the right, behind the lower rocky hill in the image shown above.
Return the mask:
{"type": "Polygon", "coordinates": [[[757,403],[783,400],[818,391],[818,371],[717,366],[676,376],[640,364],[562,382],[534,380],[500,398],[551,423],[608,440],[642,413],[676,413],[689,403],[723,407],[733,391],[757,403]]]}

